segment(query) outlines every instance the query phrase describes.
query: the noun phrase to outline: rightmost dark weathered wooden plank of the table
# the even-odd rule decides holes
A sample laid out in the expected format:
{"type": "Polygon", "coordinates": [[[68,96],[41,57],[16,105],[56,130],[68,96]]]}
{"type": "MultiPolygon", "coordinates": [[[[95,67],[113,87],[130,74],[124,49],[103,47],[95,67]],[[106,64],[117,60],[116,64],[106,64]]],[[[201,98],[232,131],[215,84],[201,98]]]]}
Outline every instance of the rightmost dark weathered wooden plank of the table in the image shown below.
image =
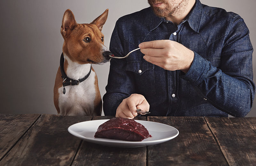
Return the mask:
{"type": "Polygon", "coordinates": [[[256,165],[256,118],[205,117],[229,165],[256,165]]]}

